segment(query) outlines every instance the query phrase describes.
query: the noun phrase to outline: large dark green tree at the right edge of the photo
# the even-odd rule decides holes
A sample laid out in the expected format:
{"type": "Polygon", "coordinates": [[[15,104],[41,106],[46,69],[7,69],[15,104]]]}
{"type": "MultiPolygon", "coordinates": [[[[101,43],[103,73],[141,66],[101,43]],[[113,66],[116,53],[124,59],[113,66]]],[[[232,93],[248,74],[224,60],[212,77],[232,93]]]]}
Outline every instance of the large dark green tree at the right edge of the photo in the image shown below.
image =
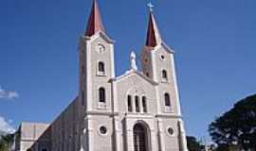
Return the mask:
{"type": "Polygon", "coordinates": [[[244,150],[256,149],[256,94],[237,102],[232,109],[209,126],[210,136],[222,150],[241,146],[244,150]]]}

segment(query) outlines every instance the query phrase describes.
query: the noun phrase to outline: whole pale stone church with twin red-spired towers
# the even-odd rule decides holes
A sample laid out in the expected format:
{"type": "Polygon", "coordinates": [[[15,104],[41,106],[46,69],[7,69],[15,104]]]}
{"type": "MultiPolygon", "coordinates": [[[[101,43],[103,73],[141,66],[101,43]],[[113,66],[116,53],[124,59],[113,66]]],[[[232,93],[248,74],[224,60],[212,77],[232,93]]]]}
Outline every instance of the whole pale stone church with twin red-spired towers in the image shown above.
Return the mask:
{"type": "MultiPolygon", "coordinates": [[[[174,50],[152,8],[146,42],[130,69],[115,75],[114,44],[96,0],[79,44],[79,92],[51,124],[22,123],[15,151],[188,151],[174,50]]],[[[146,28],[145,28],[146,30],[146,28]]]]}

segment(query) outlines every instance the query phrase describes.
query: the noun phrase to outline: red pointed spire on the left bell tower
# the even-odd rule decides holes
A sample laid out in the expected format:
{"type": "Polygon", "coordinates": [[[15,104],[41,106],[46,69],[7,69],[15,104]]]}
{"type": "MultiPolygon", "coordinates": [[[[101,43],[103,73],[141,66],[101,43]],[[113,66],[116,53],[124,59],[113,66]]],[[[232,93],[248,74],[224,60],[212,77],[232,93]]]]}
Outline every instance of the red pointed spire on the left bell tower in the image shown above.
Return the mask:
{"type": "Polygon", "coordinates": [[[101,13],[97,0],[93,0],[92,10],[88,20],[85,36],[92,36],[98,31],[105,32],[105,29],[101,22],[101,13]]]}

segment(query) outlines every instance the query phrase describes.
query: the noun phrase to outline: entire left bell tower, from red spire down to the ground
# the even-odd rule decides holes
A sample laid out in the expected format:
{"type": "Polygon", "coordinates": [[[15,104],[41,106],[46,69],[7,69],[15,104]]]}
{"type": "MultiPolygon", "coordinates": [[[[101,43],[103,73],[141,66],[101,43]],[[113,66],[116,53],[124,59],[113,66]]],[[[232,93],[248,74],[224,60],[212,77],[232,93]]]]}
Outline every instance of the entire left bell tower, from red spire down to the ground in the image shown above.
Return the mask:
{"type": "Polygon", "coordinates": [[[80,41],[80,100],[85,151],[112,150],[112,84],[115,77],[114,42],[106,35],[97,0],[93,0],[80,41]],[[101,142],[101,146],[99,143],[101,142]]]}

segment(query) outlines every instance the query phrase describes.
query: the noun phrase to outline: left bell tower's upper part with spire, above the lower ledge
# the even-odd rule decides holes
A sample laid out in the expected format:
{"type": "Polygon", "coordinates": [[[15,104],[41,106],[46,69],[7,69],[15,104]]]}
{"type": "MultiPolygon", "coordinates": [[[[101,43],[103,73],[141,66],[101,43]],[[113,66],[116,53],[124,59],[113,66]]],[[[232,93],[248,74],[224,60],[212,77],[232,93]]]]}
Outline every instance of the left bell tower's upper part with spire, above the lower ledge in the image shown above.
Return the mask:
{"type": "Polygon", "coordinates": [[[101,13],[93,1],[80,42],[80,96],[86,111],[111,110],[110,78],[115,76],[114,43],[106,35],[101,13]]]}

